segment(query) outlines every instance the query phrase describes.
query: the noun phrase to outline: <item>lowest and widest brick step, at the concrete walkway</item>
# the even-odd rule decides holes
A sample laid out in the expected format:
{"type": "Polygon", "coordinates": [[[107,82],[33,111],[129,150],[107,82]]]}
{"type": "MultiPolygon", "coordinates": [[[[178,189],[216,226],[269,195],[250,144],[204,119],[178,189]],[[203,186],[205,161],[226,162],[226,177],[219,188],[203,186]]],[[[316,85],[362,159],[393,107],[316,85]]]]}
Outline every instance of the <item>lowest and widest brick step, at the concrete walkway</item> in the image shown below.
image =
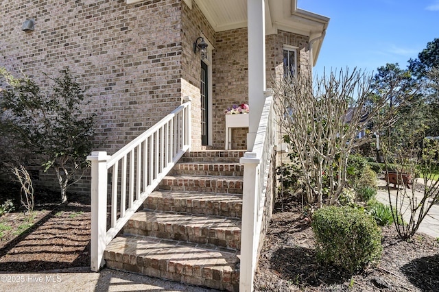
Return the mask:
{"type": "Polygon", "coordinates": [[[119,236],[104,252],[107,267],[185,284],[239,291],[237,254],[147,236],[119,236]]]}

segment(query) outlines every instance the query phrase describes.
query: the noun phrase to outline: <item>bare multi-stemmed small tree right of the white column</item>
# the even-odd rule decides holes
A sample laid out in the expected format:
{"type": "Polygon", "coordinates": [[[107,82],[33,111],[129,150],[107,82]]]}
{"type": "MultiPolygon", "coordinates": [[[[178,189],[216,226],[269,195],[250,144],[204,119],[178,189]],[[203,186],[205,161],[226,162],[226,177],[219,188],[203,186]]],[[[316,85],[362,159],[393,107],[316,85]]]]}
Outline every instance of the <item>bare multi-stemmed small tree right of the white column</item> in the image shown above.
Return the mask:
{"type": "Polygon", "coordinates": [[[405,100],[414,92],[390,80],[385,87],[370,86],[371,77],[353,73],[332,73],[321,79],[298,75],[274,84],[281,130],[292,145],[305,173],[307,201],[335,204],[347,182],[348,156],[368,143],[374,132],[394,121],[389,101],[405,100]],[[364,130],[365,136],[357,137],[364,130]]]}

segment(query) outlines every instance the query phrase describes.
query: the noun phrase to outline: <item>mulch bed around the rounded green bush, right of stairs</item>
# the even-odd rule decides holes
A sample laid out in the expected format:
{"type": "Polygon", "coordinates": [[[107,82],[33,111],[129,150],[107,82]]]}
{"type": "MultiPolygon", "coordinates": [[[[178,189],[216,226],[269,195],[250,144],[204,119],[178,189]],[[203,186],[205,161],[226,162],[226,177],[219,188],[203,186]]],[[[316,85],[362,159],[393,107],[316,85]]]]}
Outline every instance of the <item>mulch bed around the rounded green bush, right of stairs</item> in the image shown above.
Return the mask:
{"type": "Polygon", "coordinates": [[[254,280],[255,291],[439,291],[439,243],[425,234],[401,241],[394,226],[382,229],[376,268],[349,274],[316,262],[314,236],[300,205],[276,204],[254,280]]]}

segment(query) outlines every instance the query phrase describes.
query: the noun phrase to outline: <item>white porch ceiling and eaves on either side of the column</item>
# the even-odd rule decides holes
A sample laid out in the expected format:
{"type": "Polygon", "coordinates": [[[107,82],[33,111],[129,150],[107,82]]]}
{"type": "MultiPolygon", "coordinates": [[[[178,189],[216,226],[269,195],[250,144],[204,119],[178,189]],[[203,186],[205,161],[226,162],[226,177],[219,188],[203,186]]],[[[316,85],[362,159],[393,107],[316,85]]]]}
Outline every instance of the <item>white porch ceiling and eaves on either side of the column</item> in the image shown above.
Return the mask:
{"type": "MultiPolygon", "coordinates": [[[[247,0],[185,0],[195,1],[215,32],[247,27],[247,0]]],[[[264,0],[265,33],[278,29],[303,36],[313,42],[313,61],[318,58],[329,18],[297,8],[297,0],[264,0]],[[322,37],[320,37],[322,36],[322,37]]]]}

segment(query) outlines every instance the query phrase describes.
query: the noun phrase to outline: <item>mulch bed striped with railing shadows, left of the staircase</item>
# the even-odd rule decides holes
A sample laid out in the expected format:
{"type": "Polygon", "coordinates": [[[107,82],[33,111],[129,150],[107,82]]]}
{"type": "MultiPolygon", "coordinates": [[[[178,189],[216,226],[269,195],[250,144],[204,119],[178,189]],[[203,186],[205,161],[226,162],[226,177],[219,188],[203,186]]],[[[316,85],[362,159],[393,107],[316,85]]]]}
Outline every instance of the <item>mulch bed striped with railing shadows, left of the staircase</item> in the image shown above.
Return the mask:
{"type": "Polygon", "coordinates": [[[22,208],[0,217],[0,223],[12,227],[3,231],[0,241],[0,272],[89,267],[90,199],[71,194],[69,204],[60,205],[60,194],[47,190],[35,197],[32,226],[22,208]],[[21,234],[16,231],[19,226],[21,234]]]}

